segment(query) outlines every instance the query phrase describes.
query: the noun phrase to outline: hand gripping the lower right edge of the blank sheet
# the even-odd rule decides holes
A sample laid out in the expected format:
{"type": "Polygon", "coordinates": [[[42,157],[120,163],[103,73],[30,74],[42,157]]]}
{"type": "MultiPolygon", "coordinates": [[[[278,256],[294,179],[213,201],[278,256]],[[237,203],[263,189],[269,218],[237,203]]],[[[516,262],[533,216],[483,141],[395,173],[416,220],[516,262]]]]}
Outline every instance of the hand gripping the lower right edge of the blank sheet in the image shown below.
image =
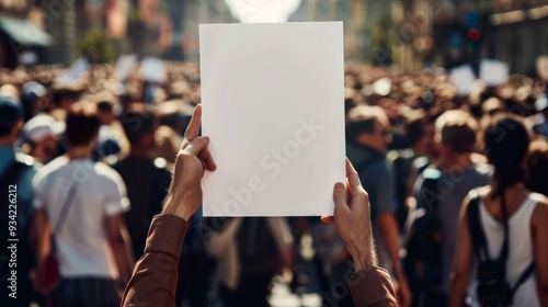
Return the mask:
{"type": "Polygon", "coordinates": [[[339,235],[346,243],[354,260],[356,271],[377,265],[372,234],[369,195],[365,192],[359,177],[346,159],[346,186],[338,182],[333,187],[335,203],[333,216],[322,216],[323,223],[335,224],[339,235]]]}

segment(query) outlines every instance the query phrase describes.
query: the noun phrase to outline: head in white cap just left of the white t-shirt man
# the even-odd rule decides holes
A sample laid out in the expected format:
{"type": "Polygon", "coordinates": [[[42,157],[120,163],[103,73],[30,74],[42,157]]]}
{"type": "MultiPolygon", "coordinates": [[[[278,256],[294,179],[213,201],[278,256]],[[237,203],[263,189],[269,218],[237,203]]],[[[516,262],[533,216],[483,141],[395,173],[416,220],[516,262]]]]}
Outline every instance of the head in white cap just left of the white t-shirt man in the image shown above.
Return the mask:
{"type": "Polygon", "coordinates": [[[45,164],[57,157],[57,140],[64,132],[65,123],[55,121],[50,115],[38,114],[25,123],[16,147],[45,164]]]}

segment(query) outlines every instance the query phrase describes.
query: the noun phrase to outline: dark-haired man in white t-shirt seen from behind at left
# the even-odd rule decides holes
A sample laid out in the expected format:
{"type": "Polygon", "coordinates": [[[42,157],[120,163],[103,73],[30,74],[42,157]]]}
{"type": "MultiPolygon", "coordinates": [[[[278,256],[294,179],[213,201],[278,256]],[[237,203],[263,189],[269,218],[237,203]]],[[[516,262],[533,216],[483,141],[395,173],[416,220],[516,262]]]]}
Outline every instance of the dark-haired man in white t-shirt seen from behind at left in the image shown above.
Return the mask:
{"type": "MultiPolygon", "coordinates": [[[[60,283],[54,306],[118,306],[134,260],[123,215],[129,207],[122,178],[92,160],[100,125],[94,105],[72,104],[67,114],[69,150],[35,175],[38,274],[52,243],[60,283]]],[[[41,285],[37,285],[41,287],[41,285]]]]}

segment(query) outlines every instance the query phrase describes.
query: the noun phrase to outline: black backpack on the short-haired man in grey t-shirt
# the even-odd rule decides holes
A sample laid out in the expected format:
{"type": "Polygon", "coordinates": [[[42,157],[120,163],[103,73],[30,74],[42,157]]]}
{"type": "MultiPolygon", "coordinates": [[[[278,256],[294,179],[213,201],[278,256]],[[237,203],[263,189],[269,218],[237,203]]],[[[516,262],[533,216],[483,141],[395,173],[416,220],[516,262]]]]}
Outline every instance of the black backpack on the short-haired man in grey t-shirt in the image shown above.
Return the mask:
{"type": "Polygon", "coordinates": [[[418,209],[406,240],[403,270],[414,292],[436,292],[442,284],[442,230],[438,219],[437,183],[442,171],[429,168],[423,172],[421,196],[426,207],[418,209]]]}

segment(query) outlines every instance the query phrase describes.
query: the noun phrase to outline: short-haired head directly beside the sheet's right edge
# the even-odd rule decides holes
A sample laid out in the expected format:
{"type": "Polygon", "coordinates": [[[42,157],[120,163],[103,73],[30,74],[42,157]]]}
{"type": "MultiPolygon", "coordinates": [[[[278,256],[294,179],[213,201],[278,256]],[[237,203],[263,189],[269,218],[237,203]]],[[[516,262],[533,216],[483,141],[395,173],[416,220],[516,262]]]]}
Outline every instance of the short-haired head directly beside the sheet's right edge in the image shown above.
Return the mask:
{"type": "Polygon", "coordinates": [[[380,106],[357,105],[346,116],[346,143],[385,154],[391,140],[390,122],[380,106]]]}

